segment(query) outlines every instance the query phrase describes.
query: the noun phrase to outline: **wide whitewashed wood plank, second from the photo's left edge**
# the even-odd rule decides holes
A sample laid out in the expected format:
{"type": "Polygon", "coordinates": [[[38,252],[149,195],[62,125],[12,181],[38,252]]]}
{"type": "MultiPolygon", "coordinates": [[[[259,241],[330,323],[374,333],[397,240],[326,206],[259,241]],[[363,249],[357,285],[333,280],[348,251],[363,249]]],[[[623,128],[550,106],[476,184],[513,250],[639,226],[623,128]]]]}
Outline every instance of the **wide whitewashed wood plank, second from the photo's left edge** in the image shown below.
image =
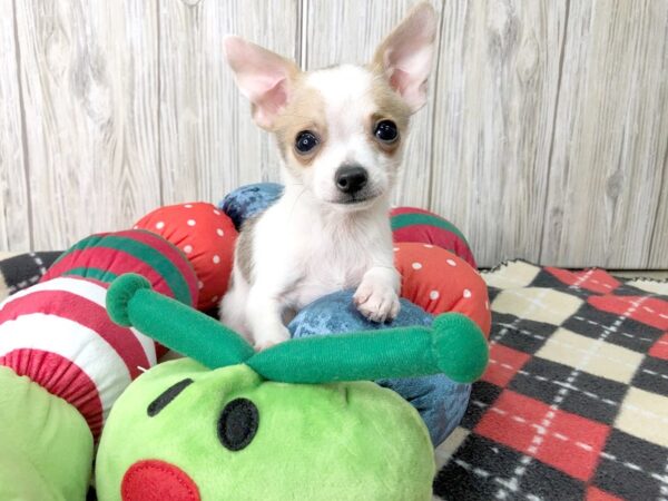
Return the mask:
{"type": "Polygon", "coordinates": [[[155,3],[17,2],[36,248],[159,204],[155,3]]]}

